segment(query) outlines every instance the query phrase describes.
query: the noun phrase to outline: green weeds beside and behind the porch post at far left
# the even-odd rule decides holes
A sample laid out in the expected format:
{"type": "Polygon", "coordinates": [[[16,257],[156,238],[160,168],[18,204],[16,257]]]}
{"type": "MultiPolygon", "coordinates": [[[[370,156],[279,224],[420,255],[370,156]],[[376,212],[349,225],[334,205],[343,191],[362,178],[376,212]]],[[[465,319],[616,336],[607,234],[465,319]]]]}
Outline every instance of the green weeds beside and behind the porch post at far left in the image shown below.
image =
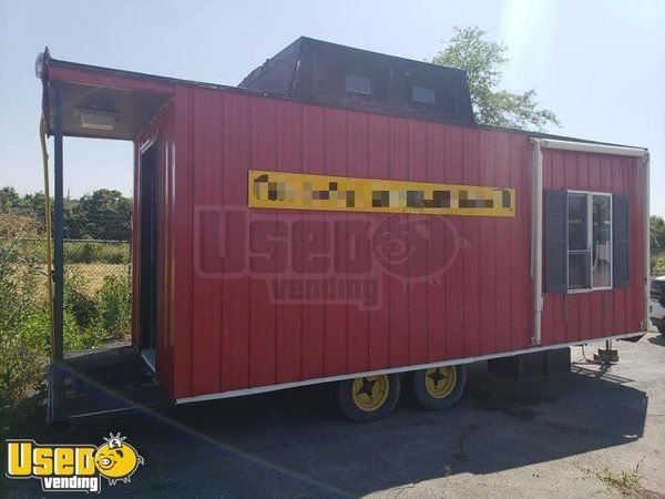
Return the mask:
{"type": "MultiPolygon", "coordinates": [[[[28,398],[43,399],[50,314],[43,248],[24,241],[38,236],[39,221],[0,214],[0,438],[17,421],[28,398]]],[[[78,267],[68,267],[64,286],[65,350],[105,339],[125,339],[131,328],[131,287],[126,276],[106,276],[90,286],[78,267]],[[93,289],[93,291],[91,291],[93,289]]]]}

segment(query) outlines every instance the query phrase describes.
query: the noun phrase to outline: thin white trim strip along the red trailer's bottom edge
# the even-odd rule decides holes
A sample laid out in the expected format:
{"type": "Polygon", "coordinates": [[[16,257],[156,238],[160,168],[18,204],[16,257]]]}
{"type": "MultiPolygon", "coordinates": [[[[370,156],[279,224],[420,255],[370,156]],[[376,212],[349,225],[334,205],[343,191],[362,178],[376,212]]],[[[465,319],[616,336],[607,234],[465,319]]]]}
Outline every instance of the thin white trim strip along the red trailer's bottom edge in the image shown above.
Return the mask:
{"type": "Polygon", "coordinates": [[[644,334],[646,334],[646,332],[626,333],[625,335],[608,336],[605,338],[593,338],[593,339],[587,339],[585,342],[572,342],[572,343],[557,344],[557,345],[548,345],[544,347],[536,347],[536,348],[524,348],[522,350],[502,352],[501,354],[489,354],[489,355],[481,355],[478,357],[456,358],[452,360],[446,360],[446,361],[441,361],[441,363],[430,363],[430,364],[418,364],[415,366],[392,367],[390,369],[369,370],[366,373],[354,373],[354,374],[348,374],[348,375],[330,376],[327,378],[305,379],[301,381],[283,383],[279,385],[266,385],[266,386],[257,386],[254,388],[242,388],[239,390],[229,390],[229,391],[219,391],[216,394],[196,395],[194,397],[177,398],[177,399],[175,399],[175,404],[190,404],[190,403],[196,403],[196,401],[216,400],[219,398],[241,397],[244,395],[264,394],[266,391],[277,391],[277,390],[284,390],[287,388],[297,388],[300,386],[319,385],[321,383],[331,383],[331,381],[342,381],[345,379],[355,379],[360,376],[377,376],[377,375],[385,375],[385,374],[408,373],[411,370],[429,369],[430,367],[459,366],[462,364],[471,364],[471,363],[477,363],[480,360],[489,360],[492,358],[512,357],[515,355],[532,354],[534,352],[554,350],[556,348],[565,348],[565,347],[570,347],[570,346],[586,345],[589,343],[632,338],[634,336],[641,336],[644,334]]]}

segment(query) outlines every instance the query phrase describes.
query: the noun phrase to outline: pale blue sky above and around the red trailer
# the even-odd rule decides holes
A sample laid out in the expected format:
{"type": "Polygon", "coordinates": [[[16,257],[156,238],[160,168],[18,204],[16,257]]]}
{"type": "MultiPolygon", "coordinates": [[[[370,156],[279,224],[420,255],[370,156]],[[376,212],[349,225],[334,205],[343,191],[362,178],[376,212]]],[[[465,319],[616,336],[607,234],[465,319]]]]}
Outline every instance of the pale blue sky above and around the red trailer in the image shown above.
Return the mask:
{"type": "MultiPolygon", "coordinates": [[[[648,147],[651,211],[665,215],[663,0],[0,0],[0,186],[42,190],[34,60],[45,45],[57,59],[235,85],[299,35],[429,60],[456,26],[509,47],[502,86],[535,89],[562,123],[548,131],[648,147]]],[[[129,142],[65,139],[64,165],[72,197],[131,194],[129,142]]]]}

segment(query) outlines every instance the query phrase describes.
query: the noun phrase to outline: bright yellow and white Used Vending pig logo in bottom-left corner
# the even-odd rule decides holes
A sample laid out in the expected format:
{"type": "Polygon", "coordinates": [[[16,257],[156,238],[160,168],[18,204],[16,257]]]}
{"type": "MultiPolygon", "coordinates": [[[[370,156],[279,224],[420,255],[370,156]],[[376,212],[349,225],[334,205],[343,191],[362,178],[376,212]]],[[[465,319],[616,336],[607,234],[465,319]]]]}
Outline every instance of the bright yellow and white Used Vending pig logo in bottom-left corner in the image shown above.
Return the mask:
{"type": "Polygon", "coordinates": [[[38,478],[43,491],[99,492],[101,477],[109,485],[129,482],[143,458],[120,434],[105,444],[40,445],[7,440],[7,477],[38,478]]]}

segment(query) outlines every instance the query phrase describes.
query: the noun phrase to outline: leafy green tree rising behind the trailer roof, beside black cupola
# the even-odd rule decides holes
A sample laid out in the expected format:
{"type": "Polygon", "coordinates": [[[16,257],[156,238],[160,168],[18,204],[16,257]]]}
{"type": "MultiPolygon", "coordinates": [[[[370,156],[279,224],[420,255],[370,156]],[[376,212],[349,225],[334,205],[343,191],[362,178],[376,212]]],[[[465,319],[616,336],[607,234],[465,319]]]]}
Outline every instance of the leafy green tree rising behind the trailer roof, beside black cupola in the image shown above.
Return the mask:
{"type": "Polygon", "coordinates": [[[539,105],[535,90],[513,93],[499,89],[502,68],[509,62],[508,47],[485,40],[487,34],[478,27],[454,27],[454,35],[446,49],[432,59],[434,64],[467,71],[477,121],[522,130],[560,126],[556,115],[539,105]]]}

